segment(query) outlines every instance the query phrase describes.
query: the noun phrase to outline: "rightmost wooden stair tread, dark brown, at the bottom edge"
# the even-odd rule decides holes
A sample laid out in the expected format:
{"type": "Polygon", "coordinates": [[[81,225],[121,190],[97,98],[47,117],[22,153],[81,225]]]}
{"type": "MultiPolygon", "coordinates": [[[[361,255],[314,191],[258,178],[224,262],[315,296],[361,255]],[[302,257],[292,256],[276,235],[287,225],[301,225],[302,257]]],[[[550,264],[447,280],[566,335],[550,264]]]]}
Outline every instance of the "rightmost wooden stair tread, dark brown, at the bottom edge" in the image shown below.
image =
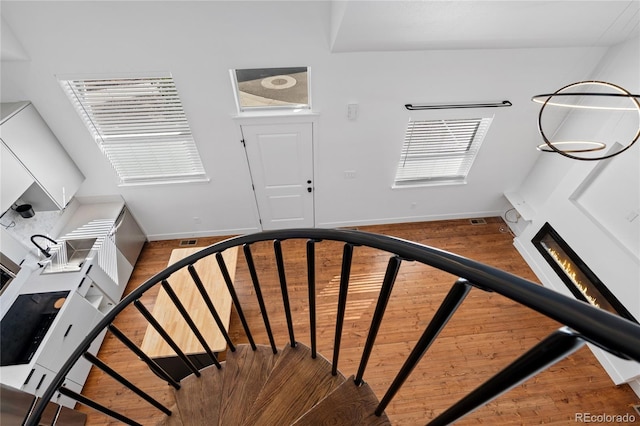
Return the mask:
{"type": "Polygon", "coordinates": [[[380,417],[374,414],[377,406],[378,398],[371,387],[366,383],[356,386],[354,377],[351,376],[294,425],[391,425],[386,414],[382,413],[380,417]]]}

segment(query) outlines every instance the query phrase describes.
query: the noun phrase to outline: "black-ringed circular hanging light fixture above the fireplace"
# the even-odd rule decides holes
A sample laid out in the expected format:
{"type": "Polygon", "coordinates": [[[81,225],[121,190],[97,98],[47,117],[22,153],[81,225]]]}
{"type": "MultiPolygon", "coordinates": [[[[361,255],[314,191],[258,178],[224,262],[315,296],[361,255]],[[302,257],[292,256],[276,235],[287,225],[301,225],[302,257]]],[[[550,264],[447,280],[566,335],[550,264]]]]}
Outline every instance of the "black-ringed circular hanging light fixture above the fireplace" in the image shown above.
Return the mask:
{"type": "MultiPolygon", "coordinates": [[[[542,104],[538,114],[538,131],[545,143],[538,145],[538,150],[543,152],[557,152],[565,157],[575,160],[603,160],[629,149],[640,137],[640,95],[633,95],[626,89],[604,81],[580,81],[572,83],[558,89],[554,93],[536,95],[531,100],[542,104]],[[590,87],[590,90],[584,90],[590,87]],[[581,88],[581,91],[574,91],[575,88],[581,88]],[[590,139],[574,139],[574,140],[551,140],[545,133],[542,125],[542,119],[545,110],[548,107],[571,108],[575,110],[587,111],[588,113],[603,112],[602,120],[610,120],[610,114],[621,114],[622,118],[638,117],[638,123],[633,127],[632,132],[628,136],[628,141],[616,141],[621,148],[614,152],[607,152],[604,155],[593,154],[596,151],[604,150],[607,144],[603,141],[595,141],[590,139]],[[609,111],[609,115],[604,112],[609,111]]],[[[548,111],[548,110],[547,110],[548,111]]],[[[563,122],[571,119],[571,112],[563,114],[563,122]]],[[[620,119],[622,119],[620,118],[620,119]]],[[[619,120],[620,120],[619,119],[619,120]]],[[[619,121],[618,120],[618,121],[619,121]]],[[[593,126],[593,120],[588,119],[590,126],[593,126]]]]}

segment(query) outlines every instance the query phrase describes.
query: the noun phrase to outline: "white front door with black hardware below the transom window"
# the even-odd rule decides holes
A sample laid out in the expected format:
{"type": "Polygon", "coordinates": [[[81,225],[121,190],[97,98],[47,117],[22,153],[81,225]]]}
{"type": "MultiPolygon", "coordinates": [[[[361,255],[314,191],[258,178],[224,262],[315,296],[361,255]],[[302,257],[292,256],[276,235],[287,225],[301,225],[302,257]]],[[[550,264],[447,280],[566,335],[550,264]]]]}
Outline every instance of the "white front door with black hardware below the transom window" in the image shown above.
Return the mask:
{"type": "Polygon", "coordinates": [[[262,229],[314,226],[313,124],[243,125],[262,229]]]}

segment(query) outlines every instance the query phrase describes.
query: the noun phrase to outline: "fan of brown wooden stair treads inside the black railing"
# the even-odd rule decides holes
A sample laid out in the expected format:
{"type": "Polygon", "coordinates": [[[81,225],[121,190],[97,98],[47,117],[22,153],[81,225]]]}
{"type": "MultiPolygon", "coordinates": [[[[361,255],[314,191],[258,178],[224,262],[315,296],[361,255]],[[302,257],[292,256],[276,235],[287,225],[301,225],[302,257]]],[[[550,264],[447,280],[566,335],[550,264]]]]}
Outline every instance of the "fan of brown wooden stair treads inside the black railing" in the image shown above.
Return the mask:
{"type": "Polygon", "coordinates": [[[376,416],[378,399],[354,377],[331,374],[301,343],[274,354],[268,346],[239,345],[222,368],[191,375],[175,391],[163,425],[390,425],[376,416]],[[212,397],[212,395],[215,395],[212,397]]]}

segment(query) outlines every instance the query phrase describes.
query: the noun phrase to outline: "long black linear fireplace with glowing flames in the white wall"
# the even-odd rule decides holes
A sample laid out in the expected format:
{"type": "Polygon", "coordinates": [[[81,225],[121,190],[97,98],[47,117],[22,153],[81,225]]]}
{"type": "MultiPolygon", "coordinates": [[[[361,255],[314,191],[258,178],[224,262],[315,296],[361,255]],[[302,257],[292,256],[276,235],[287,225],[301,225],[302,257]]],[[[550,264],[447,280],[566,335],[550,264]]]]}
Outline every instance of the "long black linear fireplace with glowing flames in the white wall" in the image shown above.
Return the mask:
{"type": "Polygon", "coordinates": [[[638,322],[549,223],[531,242],[577,299],[638,322]]]}

